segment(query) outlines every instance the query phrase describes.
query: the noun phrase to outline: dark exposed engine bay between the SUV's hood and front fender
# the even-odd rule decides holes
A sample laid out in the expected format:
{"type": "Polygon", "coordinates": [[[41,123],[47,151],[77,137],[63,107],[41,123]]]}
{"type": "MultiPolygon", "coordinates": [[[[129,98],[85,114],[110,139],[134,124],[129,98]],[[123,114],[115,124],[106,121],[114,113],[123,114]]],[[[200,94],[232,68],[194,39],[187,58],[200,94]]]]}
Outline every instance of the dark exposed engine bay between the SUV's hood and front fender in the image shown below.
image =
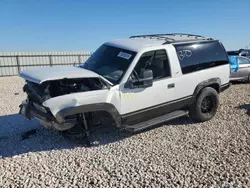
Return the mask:
{"type": "Polygon", "coordinates": [[[62,79],[37,84],[27,81],[23,91],[28,99],[42,103],[50,98],[71,93],[101,90],[107,88],[107,84],[99,78],[62,79]]]}

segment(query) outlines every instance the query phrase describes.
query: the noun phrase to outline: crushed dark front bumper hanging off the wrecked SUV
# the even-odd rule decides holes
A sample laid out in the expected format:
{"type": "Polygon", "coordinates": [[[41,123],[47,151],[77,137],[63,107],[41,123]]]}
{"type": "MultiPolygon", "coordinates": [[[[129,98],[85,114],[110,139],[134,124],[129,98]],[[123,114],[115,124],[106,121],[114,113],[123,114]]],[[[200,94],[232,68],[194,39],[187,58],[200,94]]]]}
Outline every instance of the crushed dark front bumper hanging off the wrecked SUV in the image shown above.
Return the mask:
{"type": "Polygon", "coordinates": [[[19,107],[19,114],[28,119],[36,118],[47,128],[55,128],[56,130],[64,131],[74,127],[76,124],[75,118],[66,119],[64,122],[59,123],[48,109],[28,100],[24,100],[19,107]]]}

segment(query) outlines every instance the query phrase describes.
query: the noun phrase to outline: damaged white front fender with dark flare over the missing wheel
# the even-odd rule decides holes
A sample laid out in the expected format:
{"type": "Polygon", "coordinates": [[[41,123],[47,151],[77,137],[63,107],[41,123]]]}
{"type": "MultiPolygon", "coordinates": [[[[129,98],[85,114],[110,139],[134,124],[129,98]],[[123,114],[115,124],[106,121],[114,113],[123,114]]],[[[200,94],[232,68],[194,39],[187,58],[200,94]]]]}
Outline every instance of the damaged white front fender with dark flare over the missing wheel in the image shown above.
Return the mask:
{"type": "Polygon", "coordinates": [[[107,111],[117,124],[120,124],[120,114],[114,104],[110,103],[110,91],[96,90],[72,93],[51,98],[43,102],[43,106],[50,109],[58,122],[64,122],[64,117],[84,112],[107,111]]]}

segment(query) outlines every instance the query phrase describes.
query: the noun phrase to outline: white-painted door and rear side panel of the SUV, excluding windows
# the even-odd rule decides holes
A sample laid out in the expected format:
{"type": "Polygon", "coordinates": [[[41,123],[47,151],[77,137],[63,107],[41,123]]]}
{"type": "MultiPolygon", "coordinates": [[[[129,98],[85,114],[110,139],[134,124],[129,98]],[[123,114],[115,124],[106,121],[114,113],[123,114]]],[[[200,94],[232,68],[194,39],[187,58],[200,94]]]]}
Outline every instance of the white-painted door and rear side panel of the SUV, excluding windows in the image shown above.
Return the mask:
{"type": "Polygon", "coordinates": [[[126,114],[139,109],[190,96],[193,94],[199,83],[210,78],[219,77],[222,85],[227,84],[229,82],[229,74],[230,66],[224,65],[183,75],[177,53],[173,45],[169,44],[145,48],[135,57],[131,67],[122,80],[120,93],[121,95],[127,95],[130,97],[121,98],[121,107],[119,110],[122,114],[126,114]],[[132,73],[134,66],[140,59],[140,56],[146,51],[160,49],[165,49],[167,52],[171,67],[171,78],[154,81],[153,86],[146,89],[125,89],[124,84],[132,73]],[[174,83],[175,87],[168,89],[167,86],[171,83],[174,83]]]}

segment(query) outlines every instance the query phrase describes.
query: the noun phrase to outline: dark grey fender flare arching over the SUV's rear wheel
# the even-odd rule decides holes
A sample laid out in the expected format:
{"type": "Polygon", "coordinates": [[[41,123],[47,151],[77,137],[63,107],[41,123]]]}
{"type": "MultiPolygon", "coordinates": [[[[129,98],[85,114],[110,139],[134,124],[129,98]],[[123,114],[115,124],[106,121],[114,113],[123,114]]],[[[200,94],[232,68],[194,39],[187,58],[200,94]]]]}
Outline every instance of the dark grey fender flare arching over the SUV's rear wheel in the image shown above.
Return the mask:
{"type": "Polygon", "coordinates": [[[220,78],[210,78],[199,83],[194,90],[193,97],[196,97],[200,93],[200,91],[207,86],[211,86],[219,93],[221,88],[220,78]]]}

